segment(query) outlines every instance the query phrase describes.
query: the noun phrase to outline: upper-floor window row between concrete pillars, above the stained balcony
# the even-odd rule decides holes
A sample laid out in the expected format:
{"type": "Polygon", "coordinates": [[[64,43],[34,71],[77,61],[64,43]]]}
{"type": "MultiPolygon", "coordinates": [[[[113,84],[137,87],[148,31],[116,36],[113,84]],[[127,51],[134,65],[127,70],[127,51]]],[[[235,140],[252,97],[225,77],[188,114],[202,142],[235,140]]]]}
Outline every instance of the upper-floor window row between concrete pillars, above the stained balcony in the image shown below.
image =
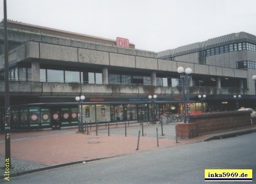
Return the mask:
{"type": "MultiPolygon", "coordinates": [[[[14,67],[9,70],[9,73],[10,80],[32,81],[32,70],[29,67],[14,67]]],[[[40,69],[40,81],[58,83],[81,82],[85,84],[102,84],[102,74],[94,72],[40,69]]],[[[109,83],[150,85],[151,77],[138,75],[109,74],[109,83]]],[[[177,85],[179,85],[179,79],[171,77],[156,77],[156,85],[176,87],[177,85]]]]}

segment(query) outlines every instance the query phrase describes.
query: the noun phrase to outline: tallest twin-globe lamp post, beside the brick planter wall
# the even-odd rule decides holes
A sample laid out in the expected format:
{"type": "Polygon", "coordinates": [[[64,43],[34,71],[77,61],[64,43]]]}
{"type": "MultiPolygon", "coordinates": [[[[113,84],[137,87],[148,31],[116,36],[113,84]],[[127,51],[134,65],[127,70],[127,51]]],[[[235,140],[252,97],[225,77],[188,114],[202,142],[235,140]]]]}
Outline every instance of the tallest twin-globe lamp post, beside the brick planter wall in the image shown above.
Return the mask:
{"type": "Polygon", "coordinates": [[[182,93],[183,93],[183,117],[184,117],[184,123],[187,122],[190,123],[190,107],[189,107],[189,74],[192,73],[191,68],[186,68],[184,72],[183,67],[178,67],[177,72],[180,74],[182,78],[182,93]],[[185,85],[184,81],[186,81],[186,91],[187,91],[187,108],[185,107],[185,85]],[[187,116],[188,118],[186,119],[186,109],[187,109],[187,116]]]}

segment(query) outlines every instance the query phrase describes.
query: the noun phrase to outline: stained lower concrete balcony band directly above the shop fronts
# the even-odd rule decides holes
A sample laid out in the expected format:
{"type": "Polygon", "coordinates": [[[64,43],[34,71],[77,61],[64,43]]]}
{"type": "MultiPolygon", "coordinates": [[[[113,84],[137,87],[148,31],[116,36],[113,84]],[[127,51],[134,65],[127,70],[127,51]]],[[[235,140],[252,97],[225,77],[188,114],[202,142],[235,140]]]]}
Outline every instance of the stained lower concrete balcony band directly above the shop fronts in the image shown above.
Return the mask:
{"type": "MultiPolygon", "coordinates": [[[[5,84],[0,81],[0,95],[4,96],[5,84]]],[[[189,87],[191,96],[249,94],[248,89],[189,87]]],[[[164,87],[135,84],[79,84],[9,81],[10,96],[182,96],[182,87],[164,87]]]]}

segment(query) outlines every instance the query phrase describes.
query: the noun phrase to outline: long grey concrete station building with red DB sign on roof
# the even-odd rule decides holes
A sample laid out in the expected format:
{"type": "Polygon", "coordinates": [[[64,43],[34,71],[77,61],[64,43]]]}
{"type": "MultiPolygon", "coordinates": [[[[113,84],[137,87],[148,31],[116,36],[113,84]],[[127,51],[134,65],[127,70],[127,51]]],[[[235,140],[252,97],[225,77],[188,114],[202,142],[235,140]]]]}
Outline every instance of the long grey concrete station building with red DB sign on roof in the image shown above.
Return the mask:
{"type": "MultiPolygon", "coordinates": [[[[83,122],[147,121],[148,95],[158,117],[183,112],[178,67],[190,67],[191,113],[256,109],[256,36],[231,33],[172,50],[138,50],[110,40],[8,20],[11,126],[78,124],[76,96],[85,96],[83,122]],[[202,101],[198,95],[206,95],[202,101]],[[234,95],[241,95],[234,99],[234,95]]],[[[4,29],[0,23],[0,125],[4,127],[4,29]]]]}

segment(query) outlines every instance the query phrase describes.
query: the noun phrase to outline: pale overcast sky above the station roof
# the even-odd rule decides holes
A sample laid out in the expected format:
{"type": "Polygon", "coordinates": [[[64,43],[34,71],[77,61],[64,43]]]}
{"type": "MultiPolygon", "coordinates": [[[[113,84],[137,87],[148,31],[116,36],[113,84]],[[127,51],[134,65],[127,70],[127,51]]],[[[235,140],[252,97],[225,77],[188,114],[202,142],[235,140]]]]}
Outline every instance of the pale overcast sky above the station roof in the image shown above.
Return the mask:
{"type": "MultiPolygon", "coordinates": [[[[3,0],[0,20],[3,19],[3,0]]],[[[256,0],[7,0],[7,18],[159,52],[238,32],[256,35],[256,0]]]]}

